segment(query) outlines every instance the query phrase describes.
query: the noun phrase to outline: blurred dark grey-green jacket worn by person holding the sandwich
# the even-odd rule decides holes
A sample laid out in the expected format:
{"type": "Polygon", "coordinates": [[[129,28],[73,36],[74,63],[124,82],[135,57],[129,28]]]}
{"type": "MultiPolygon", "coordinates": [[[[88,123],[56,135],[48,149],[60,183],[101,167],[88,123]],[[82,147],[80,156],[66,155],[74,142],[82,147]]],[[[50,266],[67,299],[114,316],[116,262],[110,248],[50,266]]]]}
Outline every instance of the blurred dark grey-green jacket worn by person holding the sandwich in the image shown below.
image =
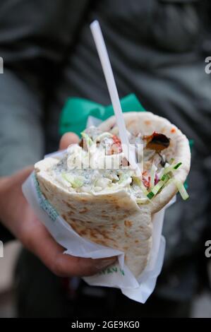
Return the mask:
{"type": "Polygon", "coordinates": [[[203,0],[0,4],[1,175],[34,163],[44,150],[56,150],[59,113],[68,96],[110,103],[89,28],[95,18],[102,26],[119,95],[135,93],[145,109],[167,117],[194,140],[191,198],[186,203],[179,198],[164,223],[167,253],[157,292],[175,300],[191,298],[198,288],[198,261],[208,225],[208,5],[203,0]]]}

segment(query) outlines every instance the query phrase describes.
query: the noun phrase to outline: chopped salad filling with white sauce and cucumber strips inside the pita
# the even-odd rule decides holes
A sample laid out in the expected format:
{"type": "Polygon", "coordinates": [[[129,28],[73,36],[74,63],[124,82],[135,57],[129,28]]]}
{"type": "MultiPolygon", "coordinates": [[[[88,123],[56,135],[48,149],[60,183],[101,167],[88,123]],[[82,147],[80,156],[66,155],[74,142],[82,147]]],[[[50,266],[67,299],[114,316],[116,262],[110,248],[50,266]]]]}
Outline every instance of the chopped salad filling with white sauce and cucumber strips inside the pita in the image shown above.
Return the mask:
{"type": "MultiPolygon", "coordinates": [[[[181,162],[168,161],[163,154],[170,144],[167,136],[155,132],[151,136],[130,133],[129,141],[135,148],[143,144],[143,174],[140,177],[123,155],[119,137],[94,126],[83,131],[79,145],[69,146],[64,158],[49,172],[56,182],[78,193],[105,193],[122,188],[136,203],[145,204],[174,181],[182,198],[188,198],[183,184],[174,179],[181,162]]],[[[138,157],[138,148],[135,153],[138,157]]]]}

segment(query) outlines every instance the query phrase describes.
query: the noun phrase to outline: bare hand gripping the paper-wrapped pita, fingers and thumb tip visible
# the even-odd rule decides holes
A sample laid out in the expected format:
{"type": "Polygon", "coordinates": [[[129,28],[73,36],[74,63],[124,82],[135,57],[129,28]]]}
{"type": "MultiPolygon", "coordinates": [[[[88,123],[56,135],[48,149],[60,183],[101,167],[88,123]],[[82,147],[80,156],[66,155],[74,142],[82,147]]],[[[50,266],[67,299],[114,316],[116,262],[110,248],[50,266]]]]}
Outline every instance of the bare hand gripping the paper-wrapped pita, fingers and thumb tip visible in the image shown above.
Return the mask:
{"type": "MultiPolygon", "coordinates": [[[[71,143],[77,143],[78,136],[65,134],[61,138],[60,148],[65,149],[71,143]]],[[[0,179],[0,218],[2,223],[23,246],[32,251],[56,275],[61,277],[92,275],[111,263],[116,258],[83,259],[63,254],[64,248],[55,242],[47,229],[40,223],[25,200],[22,184],[32,172],[33,167],[0,179]]]]}

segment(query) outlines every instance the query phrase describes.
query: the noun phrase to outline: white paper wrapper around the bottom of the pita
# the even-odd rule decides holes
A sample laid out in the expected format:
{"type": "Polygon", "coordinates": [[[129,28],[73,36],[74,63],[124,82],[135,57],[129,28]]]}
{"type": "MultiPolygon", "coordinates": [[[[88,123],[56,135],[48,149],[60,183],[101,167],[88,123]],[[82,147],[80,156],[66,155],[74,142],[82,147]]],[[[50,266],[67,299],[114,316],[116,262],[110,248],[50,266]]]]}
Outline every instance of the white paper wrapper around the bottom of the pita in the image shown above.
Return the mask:
{"type": "MultiPolygon", "coordinates": [[[[56,155],[61,155],[61,152],[54,153],[54,156],[56,155]]],[[[143,273],[138,278],[135,278],[124,264],[124,253],[122,251],[104,247],[80,237],[72,229],[71,225],[68,225],[61,218],[59,213],[42,195],[34,173],[23,184],[23,194],[35,211],[37,218],[47,227],[52,237],[62,247],[66,248],[64,254],[92,259],[118,256],[118,261],[114,265],[96,275],[83,278],[89,285],[120,288],[121,292],[130,299],[145,303],[155,289],[157,276],[162,270],[164,261],[165,239],[162,236],[164,210],[171,203],[174,203],[175,199],[153,216],[150,259],[143,273]]]]}

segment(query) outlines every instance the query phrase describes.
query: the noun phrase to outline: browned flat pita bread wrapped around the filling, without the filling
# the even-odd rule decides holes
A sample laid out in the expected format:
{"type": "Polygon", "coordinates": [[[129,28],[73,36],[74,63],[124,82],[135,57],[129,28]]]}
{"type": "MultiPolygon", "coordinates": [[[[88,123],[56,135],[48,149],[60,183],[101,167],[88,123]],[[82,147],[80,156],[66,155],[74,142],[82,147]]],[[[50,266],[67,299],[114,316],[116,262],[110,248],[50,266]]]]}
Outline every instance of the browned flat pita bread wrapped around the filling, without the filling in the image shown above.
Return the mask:
{"type": "MultiPolygon", "coordinates": [[[[150,135],[157,131],[171,138],[171,144],[164,150],[164,154],[167,158],[182,162],[175,177],[184,182],[191,161],[186,136],[167,119],[150,112],[129,112],[124,114],[124,118],[128,131],[133,134],[141,132],[150,135]]],[[[104,121],[100,129],[116,134],[115,117],[104,121]]],[[[176,185],[171,182],[153,198],[152,203],[138,206],[125,189],[95,194],[68,191],[62,184],[55,182],[48,172],[57,162],[56,158],[46,158],[35,164],[42,194],[78,235],[97,244],[124,251],[126,265],[138,277],[150,256],[152,215],[176,194],[176,185]]]]}

